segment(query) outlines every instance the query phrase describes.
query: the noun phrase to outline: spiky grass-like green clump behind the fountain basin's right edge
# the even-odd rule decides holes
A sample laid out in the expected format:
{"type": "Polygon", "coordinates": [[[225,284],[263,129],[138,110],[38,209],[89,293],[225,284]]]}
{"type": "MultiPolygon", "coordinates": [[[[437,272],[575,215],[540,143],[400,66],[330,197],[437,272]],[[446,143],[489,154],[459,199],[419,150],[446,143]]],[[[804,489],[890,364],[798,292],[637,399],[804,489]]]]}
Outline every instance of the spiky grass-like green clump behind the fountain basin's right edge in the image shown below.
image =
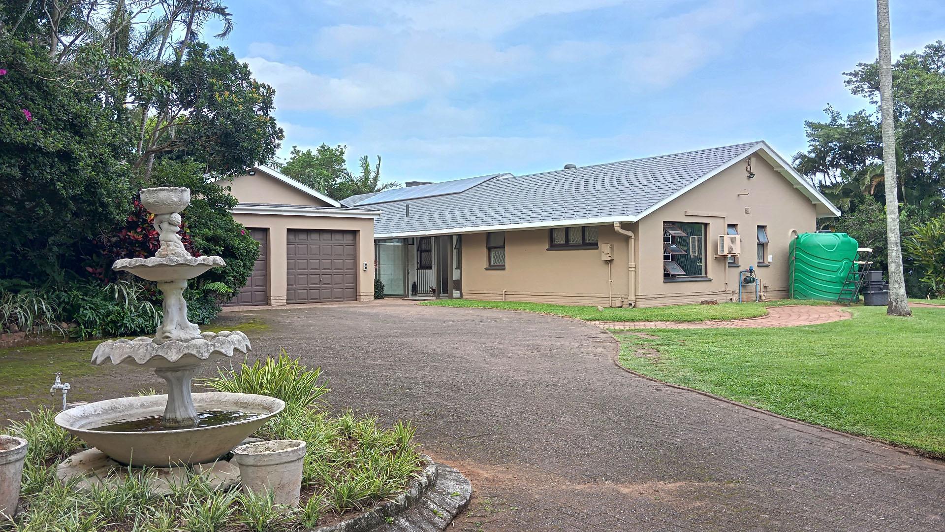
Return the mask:
{"type": "Polygon", "coordinates": [[[308,408],[322,404],[328,381],[318,382],[321,368],[309,369],[299,359],[290,359],[283,349],[279,358],[267,358],[252,365],[239,364],[239,369],[220,369],[219,377],[203,381],[220,392],[260,394],[285,401],[286,409],[308,408]]]}

